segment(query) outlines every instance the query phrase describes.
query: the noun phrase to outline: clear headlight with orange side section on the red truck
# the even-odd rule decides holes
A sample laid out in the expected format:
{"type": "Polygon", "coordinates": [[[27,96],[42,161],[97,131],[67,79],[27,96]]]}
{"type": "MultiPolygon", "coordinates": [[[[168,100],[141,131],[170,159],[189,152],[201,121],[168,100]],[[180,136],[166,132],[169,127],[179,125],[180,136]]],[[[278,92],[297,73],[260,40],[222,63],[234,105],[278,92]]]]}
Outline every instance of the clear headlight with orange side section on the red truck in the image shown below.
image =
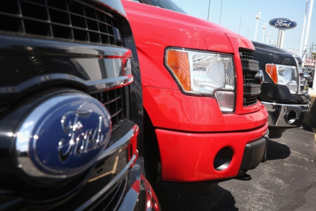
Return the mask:
{"type": "Polygon", "coordinates": [[[212,96],[222,112],[234,111],[235,70],[231,54],[169,48],[165,65],[183,92],[212,96]]]}

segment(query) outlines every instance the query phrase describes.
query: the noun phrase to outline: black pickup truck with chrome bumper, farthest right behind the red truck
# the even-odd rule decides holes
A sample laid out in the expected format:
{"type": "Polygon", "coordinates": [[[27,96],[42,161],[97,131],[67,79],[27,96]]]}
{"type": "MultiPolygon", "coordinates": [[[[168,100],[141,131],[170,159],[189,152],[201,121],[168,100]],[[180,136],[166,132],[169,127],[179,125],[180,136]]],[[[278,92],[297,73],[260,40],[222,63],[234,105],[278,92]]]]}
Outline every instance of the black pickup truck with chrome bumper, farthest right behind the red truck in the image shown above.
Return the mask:
{"type": "Polygon", "coordinates": [[[253,42],[253,59],[259,61],[264,83],[258,96],[269,118],[269,138],[280,138],[289,128],[307,122],[310,115],[310,96],[303,77],[302,59],[274,46],[253,42]]]}

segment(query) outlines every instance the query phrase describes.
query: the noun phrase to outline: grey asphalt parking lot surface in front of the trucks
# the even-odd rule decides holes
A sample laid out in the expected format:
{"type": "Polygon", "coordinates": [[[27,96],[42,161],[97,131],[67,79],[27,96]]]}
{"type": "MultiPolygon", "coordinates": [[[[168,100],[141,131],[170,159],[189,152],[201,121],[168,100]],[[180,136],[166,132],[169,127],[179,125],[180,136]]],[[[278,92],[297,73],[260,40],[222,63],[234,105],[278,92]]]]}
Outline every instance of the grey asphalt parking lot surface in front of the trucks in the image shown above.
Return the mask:
{"type": "Polygon", "coordinates": [[[269,140],[267,162],[247,172],[251,181],[221,182],[206,195],[176,202],[160,196],[162,210],[316,210],[314,134],[308,128],[289,129],[269,140]]]}

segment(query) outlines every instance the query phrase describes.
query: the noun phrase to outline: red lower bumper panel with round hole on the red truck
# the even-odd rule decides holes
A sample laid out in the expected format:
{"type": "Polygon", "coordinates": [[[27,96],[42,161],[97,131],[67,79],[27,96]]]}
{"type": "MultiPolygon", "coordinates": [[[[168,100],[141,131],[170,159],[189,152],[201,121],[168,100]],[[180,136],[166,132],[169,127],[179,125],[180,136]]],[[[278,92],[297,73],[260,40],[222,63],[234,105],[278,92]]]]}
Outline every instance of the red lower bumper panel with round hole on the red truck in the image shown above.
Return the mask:
{"type": "Polygon", "coordinates": [[[196,182],[237,176],[247,143],[264,136],[268,128],[233,133],[183,133],[156,129],[162,179],[173,182],[196,182]],[[216,154],[224,147],[232,149],[228,167],[214,168],[216,154]]]}

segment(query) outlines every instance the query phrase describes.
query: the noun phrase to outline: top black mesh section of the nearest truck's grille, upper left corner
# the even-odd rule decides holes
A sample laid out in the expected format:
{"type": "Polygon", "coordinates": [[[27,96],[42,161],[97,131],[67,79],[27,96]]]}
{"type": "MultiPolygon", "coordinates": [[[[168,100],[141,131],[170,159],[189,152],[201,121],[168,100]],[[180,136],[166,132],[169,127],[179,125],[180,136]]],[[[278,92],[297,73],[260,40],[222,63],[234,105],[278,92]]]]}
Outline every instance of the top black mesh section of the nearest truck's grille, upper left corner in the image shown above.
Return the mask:
{"type": "Polygon", "coordinates": [[[106,9],[76,0],[1,0],[0,30],[44,39],[115,45],[118,24],[106,9]]]}

